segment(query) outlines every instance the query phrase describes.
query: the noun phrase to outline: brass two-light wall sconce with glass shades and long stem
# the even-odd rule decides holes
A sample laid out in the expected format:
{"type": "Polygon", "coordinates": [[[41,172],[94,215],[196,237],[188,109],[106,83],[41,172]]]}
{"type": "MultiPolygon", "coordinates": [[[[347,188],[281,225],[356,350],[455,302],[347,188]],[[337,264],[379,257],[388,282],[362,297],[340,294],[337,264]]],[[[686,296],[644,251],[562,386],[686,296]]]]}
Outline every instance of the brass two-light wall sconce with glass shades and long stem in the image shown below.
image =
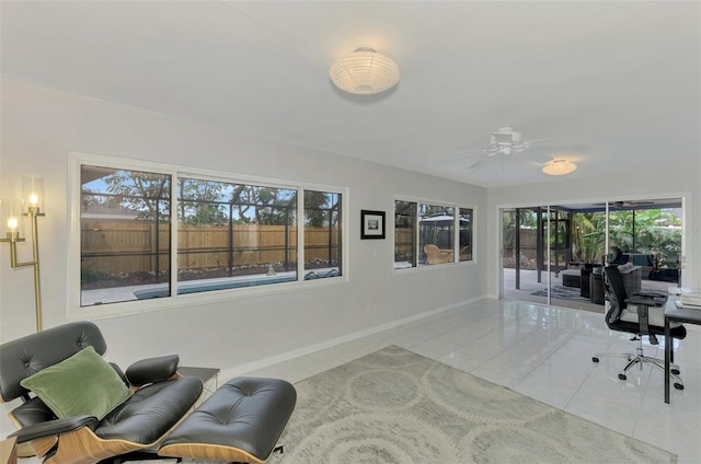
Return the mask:
{"type": "Polygon", "coordinates": [[[10,267],[34,268],[34,302],[36,305],[36,332],[42,332],[42,285],[39,280],[39,243],[37,240],[37,218],[44,216],[41,201],[44,200],[44,182],[38,177],[22,177],[22,200],[2,201],[2,220],[5,237],[0,242],[10,244],[10,267]],[[32,224],[32,260],[18,262],[18,242],[22,236],[21,216],[30,218],[32,224]]]}

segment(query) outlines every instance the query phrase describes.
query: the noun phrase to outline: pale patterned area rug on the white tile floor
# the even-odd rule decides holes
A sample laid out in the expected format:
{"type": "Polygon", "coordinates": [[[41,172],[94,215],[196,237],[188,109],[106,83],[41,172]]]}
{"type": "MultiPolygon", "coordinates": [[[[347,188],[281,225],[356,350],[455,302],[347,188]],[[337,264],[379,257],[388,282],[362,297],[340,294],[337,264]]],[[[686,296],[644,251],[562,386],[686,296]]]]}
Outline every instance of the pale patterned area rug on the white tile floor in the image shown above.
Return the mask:
{"type": "Polygon", "coordinates": [[[271,464],[675,463],[676,455],[388,347],[296,385],[271,464]]]}

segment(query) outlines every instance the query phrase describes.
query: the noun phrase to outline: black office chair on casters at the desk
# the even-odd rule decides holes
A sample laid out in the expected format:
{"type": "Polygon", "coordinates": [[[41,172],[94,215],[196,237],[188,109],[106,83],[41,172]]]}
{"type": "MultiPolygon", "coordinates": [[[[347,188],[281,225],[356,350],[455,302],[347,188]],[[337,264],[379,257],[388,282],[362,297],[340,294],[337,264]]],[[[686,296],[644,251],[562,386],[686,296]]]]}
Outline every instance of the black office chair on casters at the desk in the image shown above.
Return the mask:
{"type": "MultiPolygon", "coordinates": [[[[643,336],[648,336],[651,345],[659,344],[657,335],[664,336],[665,334],[664,306],[667,301],[667,294],[656,291],[642,291],[628,295],[623,286],[623,278],[617,266],[607,266],[604,269],[604,282],[606,298],[610,303],[610,309],[606,313],[606,324],[611,330],[634,334],[631,340],[636,340],[637,347],[635,352],[600,352],[593,357],[591,361],[599,362],[599,358],[605,356],[628,359],[629,362],[623,368],[623,372],[618,374],[620,380],[627,380],[625,373],[635,364],[639,364],[642,370],[643,363],[647,362],[664,370],[664,359],[643,355],[643,336]]],[[[670,334],[673,338],[680,340],[687,336],[687,329],[679,323],[671,324],[670,334]]],[[[679,373],[679,367],[671,364],[670,374],[676,380],[674,383],[675,388],[683,390],[679,373]]]]}

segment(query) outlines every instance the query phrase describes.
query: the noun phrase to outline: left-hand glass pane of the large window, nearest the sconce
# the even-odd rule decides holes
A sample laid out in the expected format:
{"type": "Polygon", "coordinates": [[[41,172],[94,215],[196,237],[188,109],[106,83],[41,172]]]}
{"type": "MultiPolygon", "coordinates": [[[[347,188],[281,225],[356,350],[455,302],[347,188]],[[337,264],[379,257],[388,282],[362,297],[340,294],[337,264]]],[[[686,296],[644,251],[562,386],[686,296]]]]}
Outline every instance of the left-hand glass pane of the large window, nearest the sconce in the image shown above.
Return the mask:
{"type": "Polygon", "coordinates": [[[81,306],[170,295],[171,176],[81,166],[81,306]]]}

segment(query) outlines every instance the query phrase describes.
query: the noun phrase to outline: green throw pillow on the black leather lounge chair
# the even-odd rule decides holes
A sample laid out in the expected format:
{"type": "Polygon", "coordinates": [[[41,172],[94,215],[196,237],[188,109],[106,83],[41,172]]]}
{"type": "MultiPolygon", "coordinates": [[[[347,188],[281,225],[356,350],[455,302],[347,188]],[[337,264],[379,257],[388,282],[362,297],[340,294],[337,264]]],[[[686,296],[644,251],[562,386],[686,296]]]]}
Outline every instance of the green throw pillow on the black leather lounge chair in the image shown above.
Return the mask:
{"type": "Polygon", "coordinates": [[[42,369],[20,385],[34,392],[59,419],[88,415],[102,420],[134,393],[93,347],[42,369]]]}

